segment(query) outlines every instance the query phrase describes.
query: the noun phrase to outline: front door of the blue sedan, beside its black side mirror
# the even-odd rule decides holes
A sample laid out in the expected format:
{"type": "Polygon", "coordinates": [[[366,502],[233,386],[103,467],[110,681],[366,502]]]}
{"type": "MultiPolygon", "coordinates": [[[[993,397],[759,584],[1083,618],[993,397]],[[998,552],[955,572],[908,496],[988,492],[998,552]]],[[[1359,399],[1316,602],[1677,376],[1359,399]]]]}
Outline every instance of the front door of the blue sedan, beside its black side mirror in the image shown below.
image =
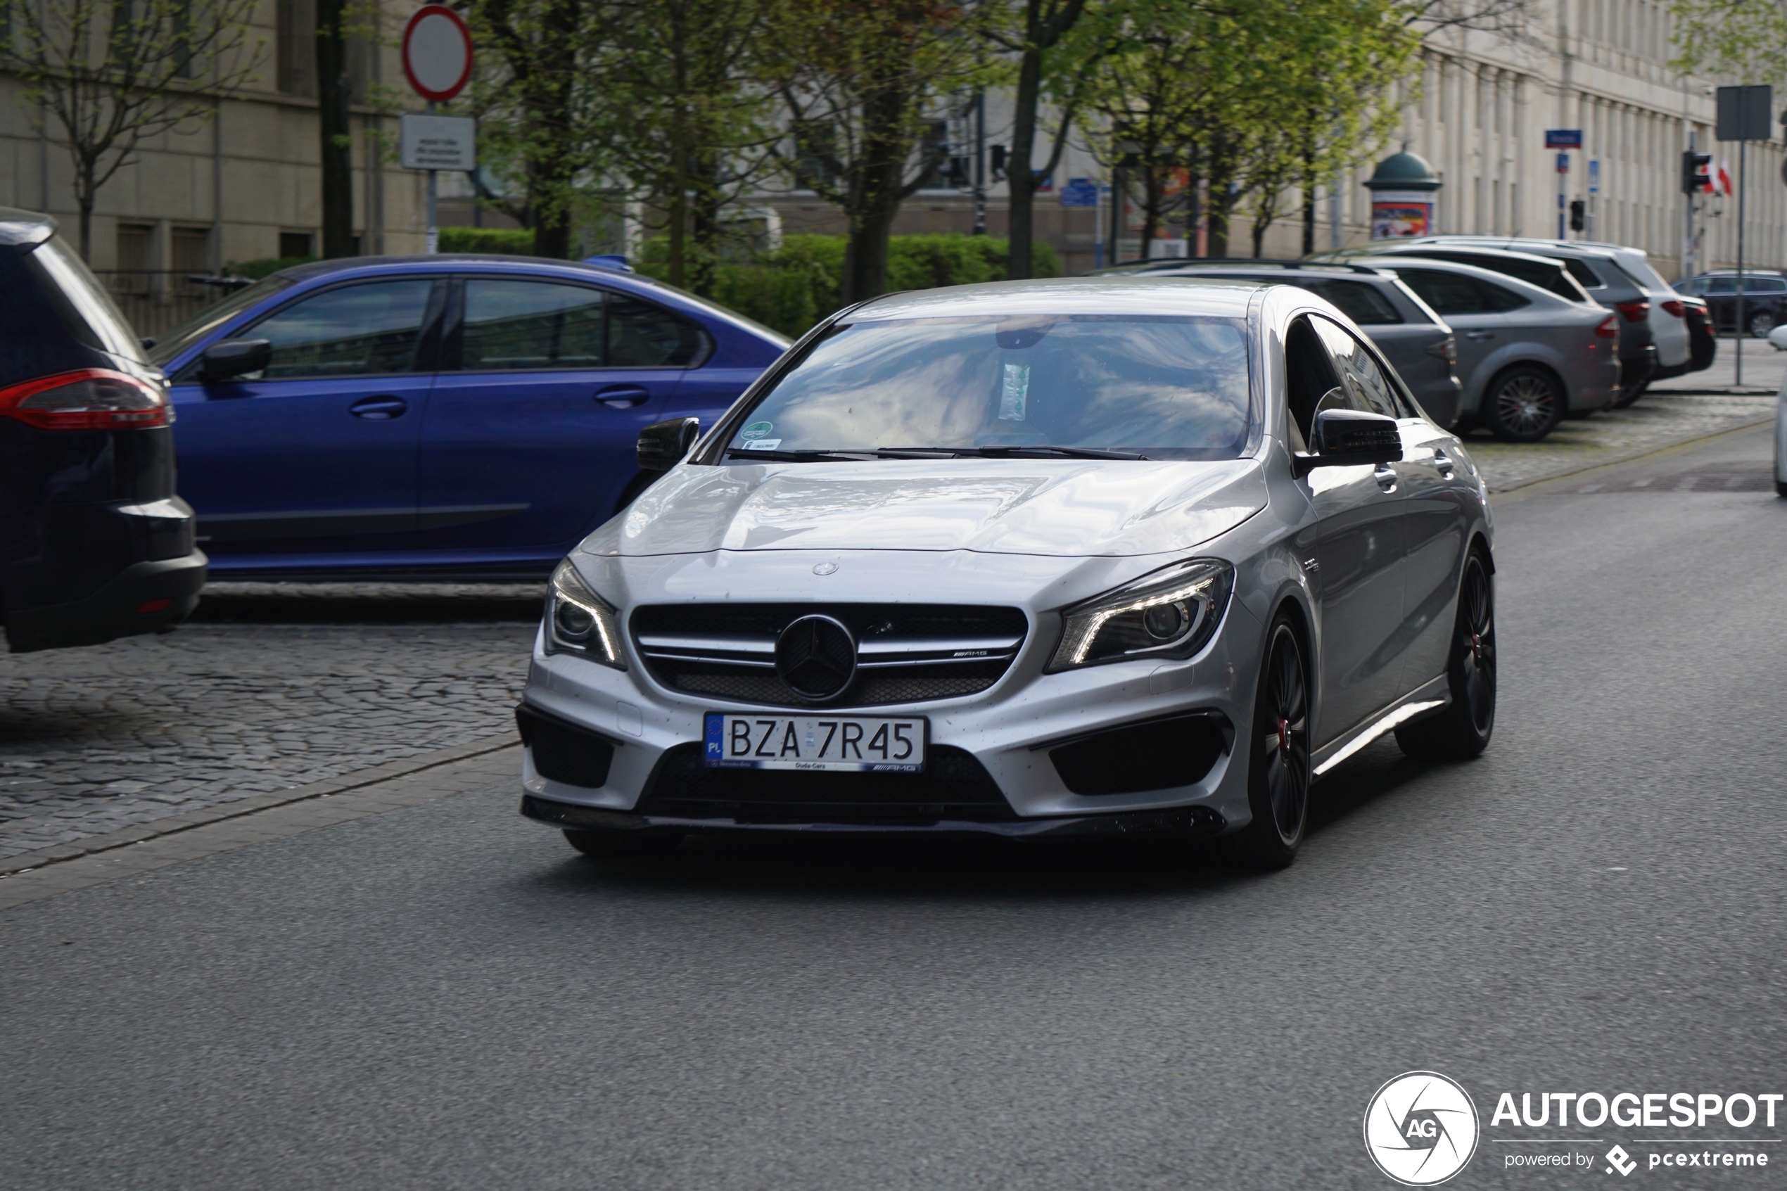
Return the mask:
{"type": "Polygon", "coordinates": [[[180,496],[218,570],[415,548],[434,289],[395,277],[306,295],[234,332],[272,341],[264,373],[173,386],[180,496]]]}

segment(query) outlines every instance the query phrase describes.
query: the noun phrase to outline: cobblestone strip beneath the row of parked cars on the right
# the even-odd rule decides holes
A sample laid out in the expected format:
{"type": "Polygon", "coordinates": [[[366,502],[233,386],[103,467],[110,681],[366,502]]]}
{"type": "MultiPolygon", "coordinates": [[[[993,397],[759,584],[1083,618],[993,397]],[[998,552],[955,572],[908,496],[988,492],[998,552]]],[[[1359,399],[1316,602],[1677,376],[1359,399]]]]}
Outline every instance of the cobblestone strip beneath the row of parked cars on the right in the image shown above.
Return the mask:
{"type": "MultiPolygon", "coordinates": [[[[1748,361],[1744,373],[1748,380],[1748,361]]],[[[1465,436],[1465,446],[1489,479],[1489,489],[1506,491],[1773,416],[1773,395],[1651,391],[1628,409],[1569,418],[1542,443],[1498,443],[1487,430],[1472,430],[1465,436]]]]}

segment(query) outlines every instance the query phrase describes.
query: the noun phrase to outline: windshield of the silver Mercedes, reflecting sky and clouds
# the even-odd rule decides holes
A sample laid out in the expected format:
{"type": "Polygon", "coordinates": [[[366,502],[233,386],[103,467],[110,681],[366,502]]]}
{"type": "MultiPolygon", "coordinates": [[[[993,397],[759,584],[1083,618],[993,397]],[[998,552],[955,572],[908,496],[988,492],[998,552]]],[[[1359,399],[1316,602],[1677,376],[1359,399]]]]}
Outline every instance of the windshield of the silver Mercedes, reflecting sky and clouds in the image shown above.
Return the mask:
{"type": "Polygon", "coordinates": [[[745,452],[1045,450],[1235,459],[1246,320],[911,318],[833,327],[740,421],[745,452]]]}

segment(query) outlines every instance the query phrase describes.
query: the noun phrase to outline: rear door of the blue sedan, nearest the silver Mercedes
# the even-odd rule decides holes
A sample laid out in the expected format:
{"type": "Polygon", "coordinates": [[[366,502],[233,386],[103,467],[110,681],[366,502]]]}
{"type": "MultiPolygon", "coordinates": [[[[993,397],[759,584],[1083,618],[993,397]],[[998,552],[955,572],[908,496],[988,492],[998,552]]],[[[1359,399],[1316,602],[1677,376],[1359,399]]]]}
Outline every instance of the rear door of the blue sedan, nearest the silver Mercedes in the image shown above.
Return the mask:
{"type": "Polygon", "coordinates": [[[613,514],[706,337],[575,280],[466,277],[459,302],[422,427],[422,548],[556,559],[613,514]]]}

